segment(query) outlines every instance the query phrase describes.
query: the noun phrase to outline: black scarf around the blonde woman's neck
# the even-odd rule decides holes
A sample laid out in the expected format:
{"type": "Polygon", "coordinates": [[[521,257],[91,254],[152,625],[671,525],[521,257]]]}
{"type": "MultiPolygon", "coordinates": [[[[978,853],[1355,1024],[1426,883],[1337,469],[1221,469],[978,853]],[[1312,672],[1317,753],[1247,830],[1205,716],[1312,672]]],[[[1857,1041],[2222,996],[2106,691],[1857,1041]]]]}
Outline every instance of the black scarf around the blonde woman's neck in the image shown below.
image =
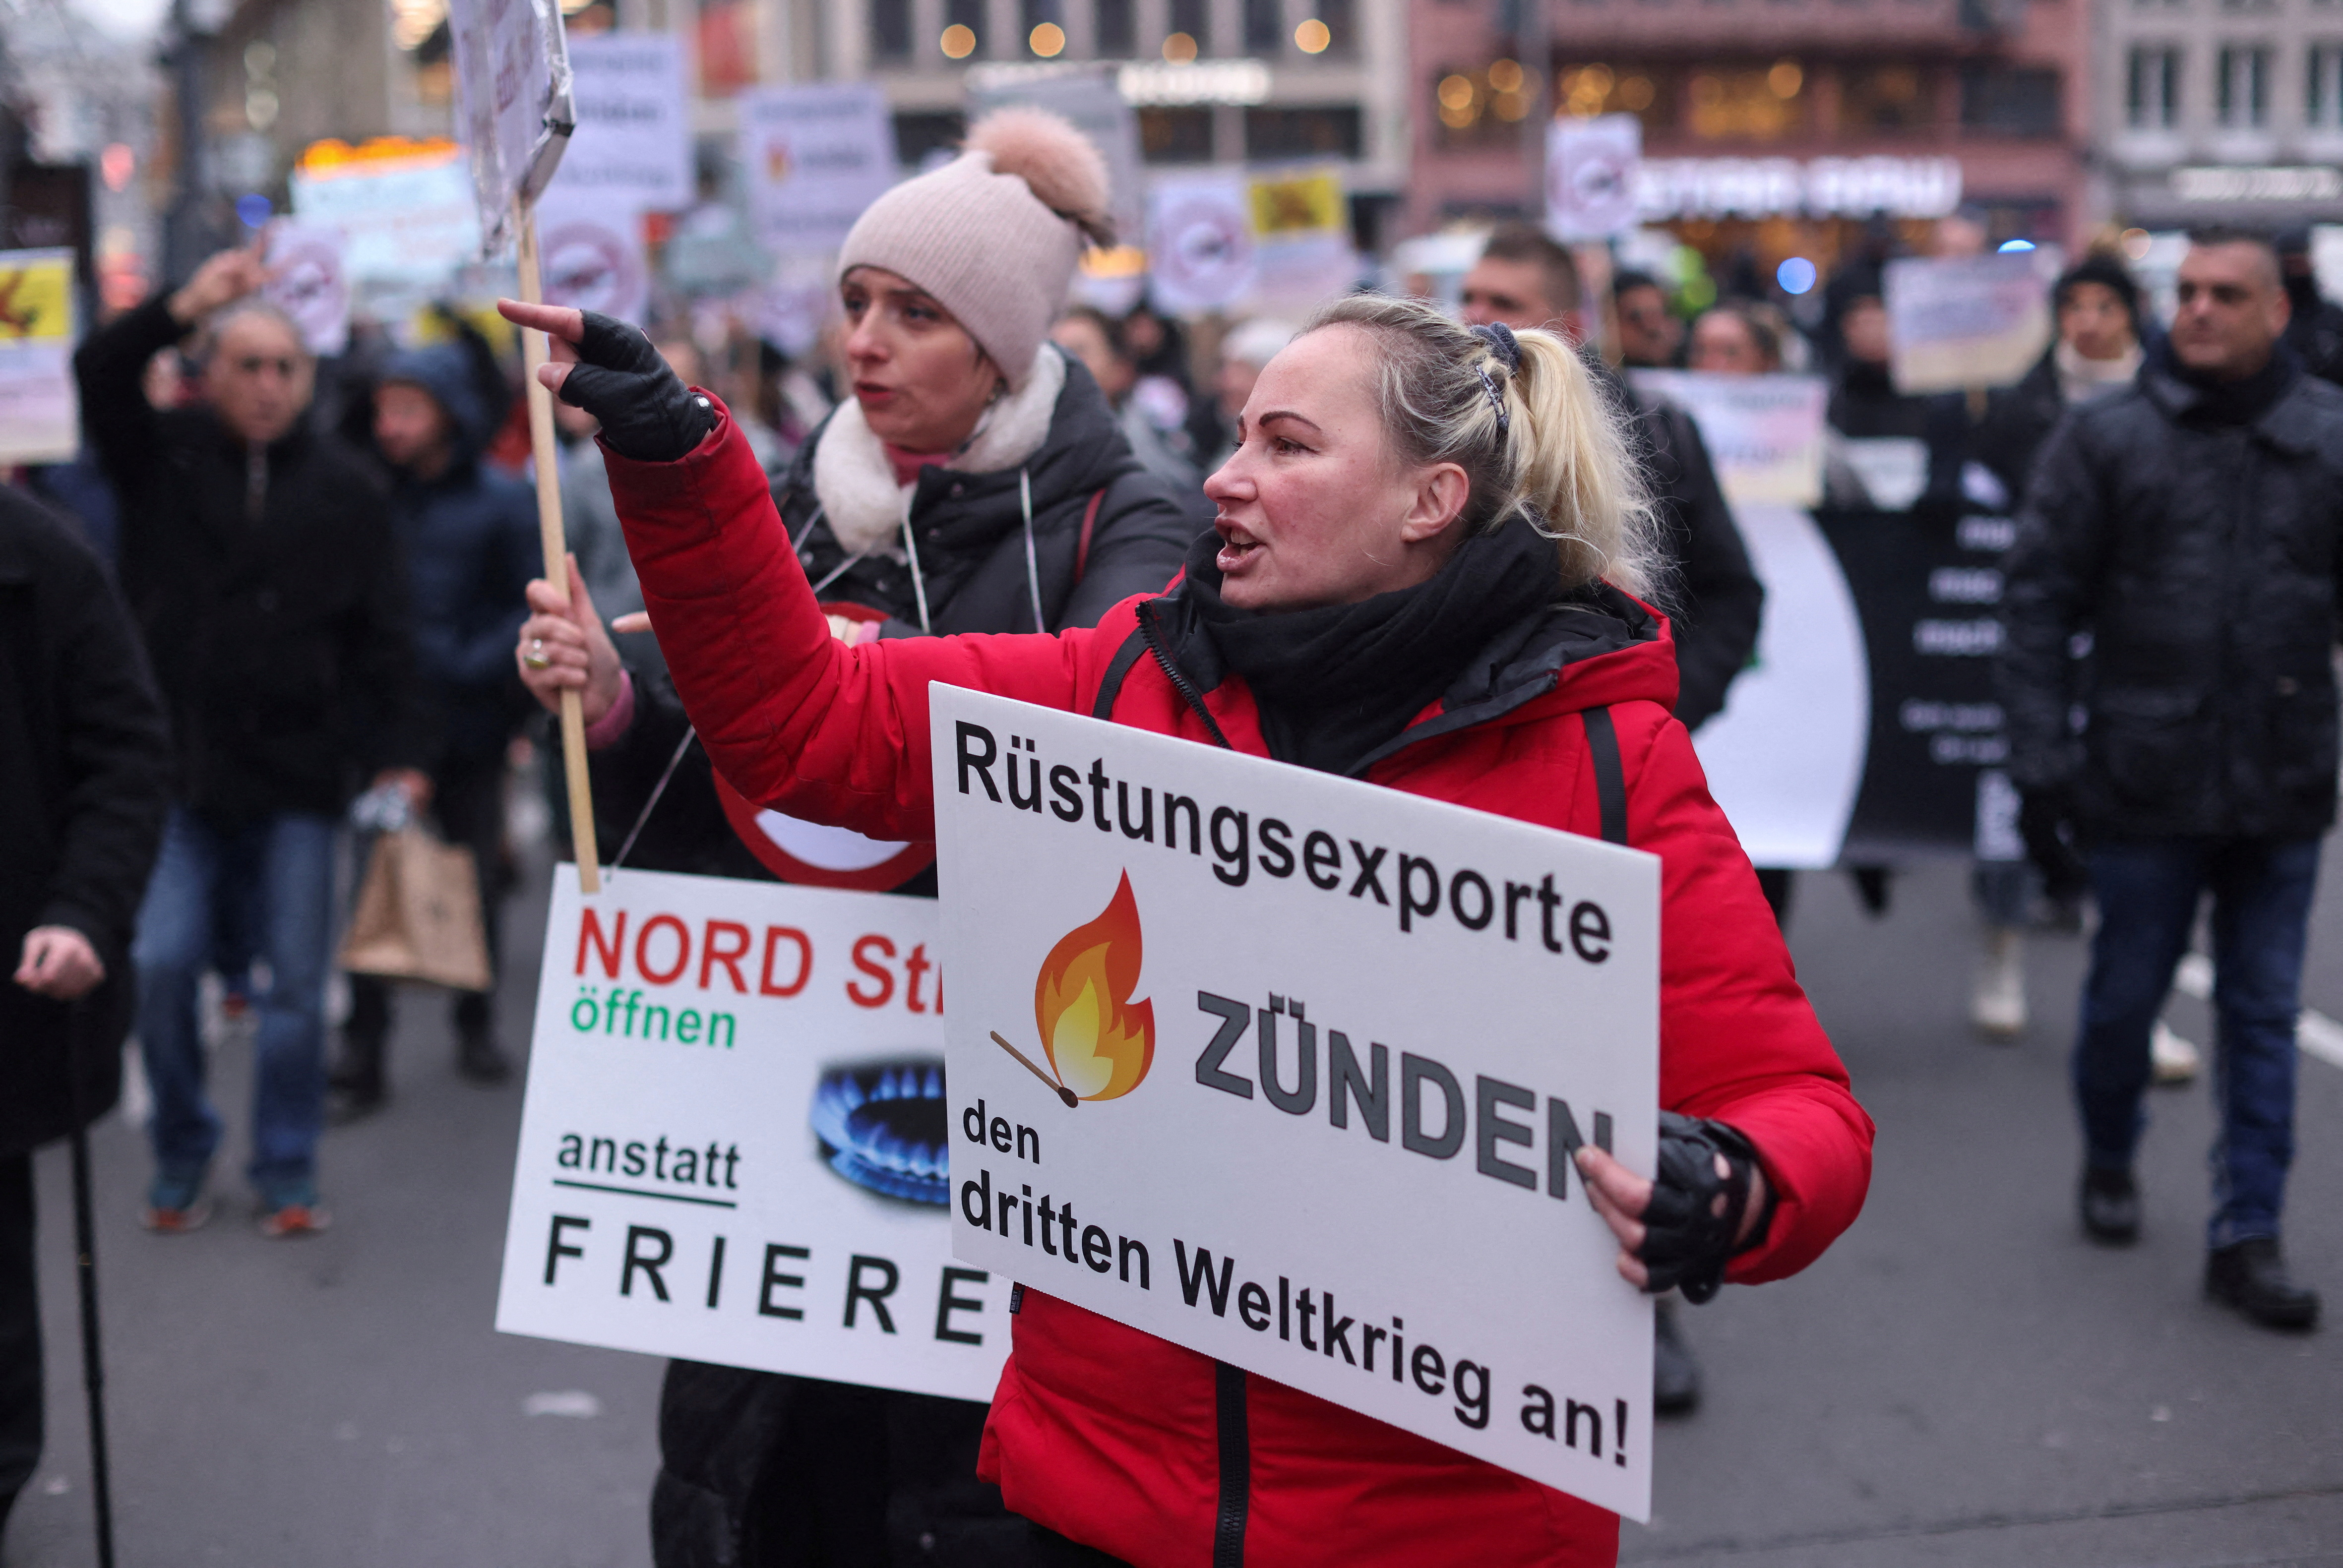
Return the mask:
{"type": "Polygon", "coordinates": [[[1553,541],[1523,518],[1474,532],[1441,572],[1357,605],[1254,612],[1221,598],[1221,537],[1188,551],[1186,593],[1261,703],[1279,762],[1347,773],[1439,698],[1514,621],[1563,600],[1553,541]]]}

